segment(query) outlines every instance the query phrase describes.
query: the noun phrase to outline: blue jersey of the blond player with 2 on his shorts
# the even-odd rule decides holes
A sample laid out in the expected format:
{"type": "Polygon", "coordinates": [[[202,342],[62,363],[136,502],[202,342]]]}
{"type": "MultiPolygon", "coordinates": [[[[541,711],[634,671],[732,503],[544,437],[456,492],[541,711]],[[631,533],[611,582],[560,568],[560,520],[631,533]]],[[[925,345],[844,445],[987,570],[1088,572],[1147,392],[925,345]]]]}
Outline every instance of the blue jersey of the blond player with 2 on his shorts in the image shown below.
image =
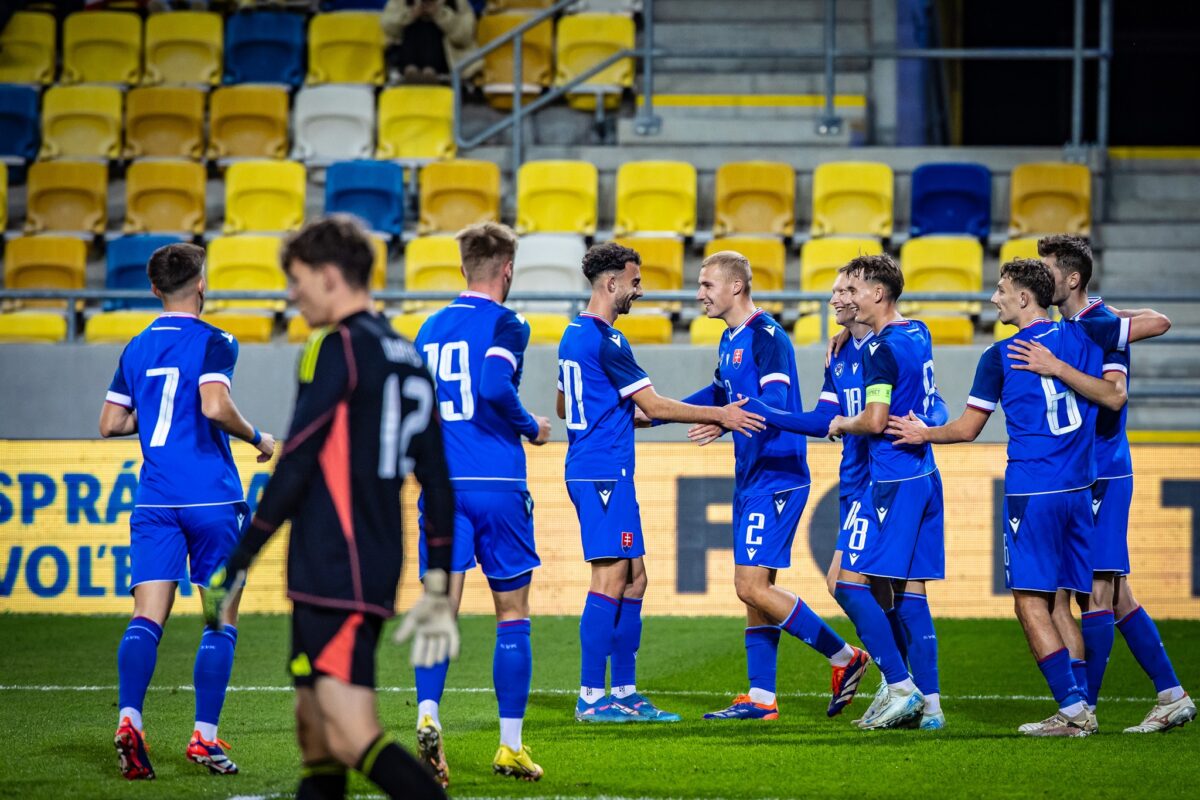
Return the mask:
{"type": "MultiPolygon", "coordinates": [[[[782,390],[768,403],[782,411],[804,410],[796,377],[796,350],[787,331],[762,311],[721,335],[716,381],[728,401],[762,397],[772,385],[782,390]]],[[[775,494],[809,485],[808,446],[803,435],[768,427],[752,437],[733,437],[734,481],[740,494],[775,494]]]]}

